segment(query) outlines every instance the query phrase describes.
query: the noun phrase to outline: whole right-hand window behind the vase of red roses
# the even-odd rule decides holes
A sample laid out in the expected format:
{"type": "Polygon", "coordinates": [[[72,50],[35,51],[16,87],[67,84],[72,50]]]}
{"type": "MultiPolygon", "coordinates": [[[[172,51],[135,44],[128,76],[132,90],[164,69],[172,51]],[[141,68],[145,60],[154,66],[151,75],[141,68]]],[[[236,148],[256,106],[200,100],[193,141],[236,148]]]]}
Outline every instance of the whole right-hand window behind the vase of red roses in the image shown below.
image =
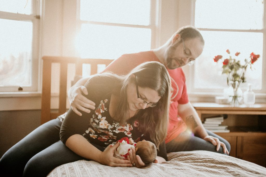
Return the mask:
{"type": "Polygon", "coordinates": [[[194,25],[201,31],[205,40],[205,47],[200,57],[195,61],[193,81],[190,83],[192,92],[220,92],[227,88],[227,76],[222,74],[222,66],[215,63],[213,58],[222,55],[229,57],[238,51],[236,58],[241,62],[250,56],[251,52],[260,54],[260,58],[253,64],[253,71],[248,68],[245,74],[246,83],[240,86],[244,90],[247,84],[257,93],[265,93],[263,80],[266,66],[263,61],[265,49],[266,28],[263,10],[263,0],[196,0],[194,25]],[[264,43],[263,43],[264,41],[264,43]],[[263,65],[264,63],[264,65],[263,65]],[[202,77],[204,76],[204,77],[202,77]]]}

